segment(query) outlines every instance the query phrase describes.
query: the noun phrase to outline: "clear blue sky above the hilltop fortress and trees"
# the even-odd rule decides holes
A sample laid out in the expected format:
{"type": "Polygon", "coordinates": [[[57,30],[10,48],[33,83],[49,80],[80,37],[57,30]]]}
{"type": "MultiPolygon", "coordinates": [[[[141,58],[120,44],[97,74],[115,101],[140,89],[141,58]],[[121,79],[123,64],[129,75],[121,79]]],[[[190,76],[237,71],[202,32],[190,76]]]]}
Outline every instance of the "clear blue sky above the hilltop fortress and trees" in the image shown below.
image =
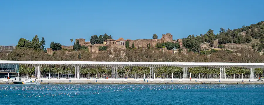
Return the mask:
{"type": "Polygon", "coordinates": [[[1,0],[0,45],[35,34],[70,46],[70,39],[107,33],[114,39],[151,39],[171,33],[218,33],[264,21],[263,0],[1,0]]]}

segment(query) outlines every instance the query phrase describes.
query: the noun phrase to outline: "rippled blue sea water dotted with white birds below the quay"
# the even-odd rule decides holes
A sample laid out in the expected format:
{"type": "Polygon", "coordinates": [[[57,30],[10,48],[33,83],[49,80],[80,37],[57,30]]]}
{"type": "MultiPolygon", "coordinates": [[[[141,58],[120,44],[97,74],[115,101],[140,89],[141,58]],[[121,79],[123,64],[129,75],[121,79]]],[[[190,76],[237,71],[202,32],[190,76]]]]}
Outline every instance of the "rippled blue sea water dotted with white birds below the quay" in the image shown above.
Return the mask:
{"type": "Polygon", "coordinates": [[[0,85],[1,105],[263,105],[264,85],[0,85]]]}

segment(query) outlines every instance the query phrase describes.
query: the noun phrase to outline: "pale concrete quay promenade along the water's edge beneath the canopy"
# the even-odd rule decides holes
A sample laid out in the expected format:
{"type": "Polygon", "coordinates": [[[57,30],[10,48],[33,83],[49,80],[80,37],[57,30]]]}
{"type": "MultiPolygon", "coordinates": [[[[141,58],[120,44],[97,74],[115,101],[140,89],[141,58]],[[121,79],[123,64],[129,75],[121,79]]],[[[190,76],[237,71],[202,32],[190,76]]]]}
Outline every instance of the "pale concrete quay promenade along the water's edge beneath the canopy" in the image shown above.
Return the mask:
{"type": "MultiPolygon", "coordinates": [[[[12,84],[12,80],[14,79],[0,79],[0,84],[5,84],[6,81],[8,81],[10,84],[12,84]]],[[[35,81],[35,78],[31,78],[31,80],[35,81]]],[[[90,78],[90,79],[36,79],[38,82],[42,84],[47,84],[48,82],[51,82],[52,84],[165,84],[167,82],[168,84],[264,84],[264,81],[256,81],[257,79],[105,79],[105,78],[90,78]]]]}

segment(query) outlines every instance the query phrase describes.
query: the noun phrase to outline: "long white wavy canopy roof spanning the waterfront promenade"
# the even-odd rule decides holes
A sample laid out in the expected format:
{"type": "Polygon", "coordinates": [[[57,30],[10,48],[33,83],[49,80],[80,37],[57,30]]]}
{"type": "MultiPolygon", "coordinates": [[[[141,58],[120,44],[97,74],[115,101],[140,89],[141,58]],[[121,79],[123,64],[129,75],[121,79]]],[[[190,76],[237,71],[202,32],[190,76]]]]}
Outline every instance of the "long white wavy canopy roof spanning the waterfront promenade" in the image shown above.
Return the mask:
{"type": "Polygon", "coordinates": [[[47,67],[52,65],[62,66],[105,66],[105,67],[215,67],[215,68],[230,68],[230,67],[245,67],[245,68],[264,68],[264,63],[218,63],[218,62],[90,62],[90,61],[0,61],[0,64],[22,64],[22,65],[39,65],[47,67]]]}

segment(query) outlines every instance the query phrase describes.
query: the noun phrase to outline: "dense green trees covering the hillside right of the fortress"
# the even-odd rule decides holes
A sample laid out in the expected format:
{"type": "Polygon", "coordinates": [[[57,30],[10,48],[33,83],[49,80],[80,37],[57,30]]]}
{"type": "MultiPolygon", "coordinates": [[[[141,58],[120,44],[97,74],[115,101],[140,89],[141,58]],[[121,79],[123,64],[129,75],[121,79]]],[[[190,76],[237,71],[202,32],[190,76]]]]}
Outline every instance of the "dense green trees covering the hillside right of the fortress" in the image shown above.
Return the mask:
{"type": "MultiPolygon", "coordinates": [[[[190,51],[200,51],[200,44],[204,42],[210,43],[213,46],[213,41],[218,39],[219,44],[226,43],[250,43],[251,38],[259,38],[261,43],[264,43],[264,22],[251,24],[250,26],[242,26],[239,29],[224,29],[220,28],[219,33],[214,34],[214,30],[209,29],[206,34],[189,35],[187,38],[182,39],[183,46],[190,51]],[[245,34],[243,34],[243,32],[245,34]],[[262,41],[263,40],[263,41],[262,41]]],[[[259,50],[261,47],[259,47],[259,50]]]]}

